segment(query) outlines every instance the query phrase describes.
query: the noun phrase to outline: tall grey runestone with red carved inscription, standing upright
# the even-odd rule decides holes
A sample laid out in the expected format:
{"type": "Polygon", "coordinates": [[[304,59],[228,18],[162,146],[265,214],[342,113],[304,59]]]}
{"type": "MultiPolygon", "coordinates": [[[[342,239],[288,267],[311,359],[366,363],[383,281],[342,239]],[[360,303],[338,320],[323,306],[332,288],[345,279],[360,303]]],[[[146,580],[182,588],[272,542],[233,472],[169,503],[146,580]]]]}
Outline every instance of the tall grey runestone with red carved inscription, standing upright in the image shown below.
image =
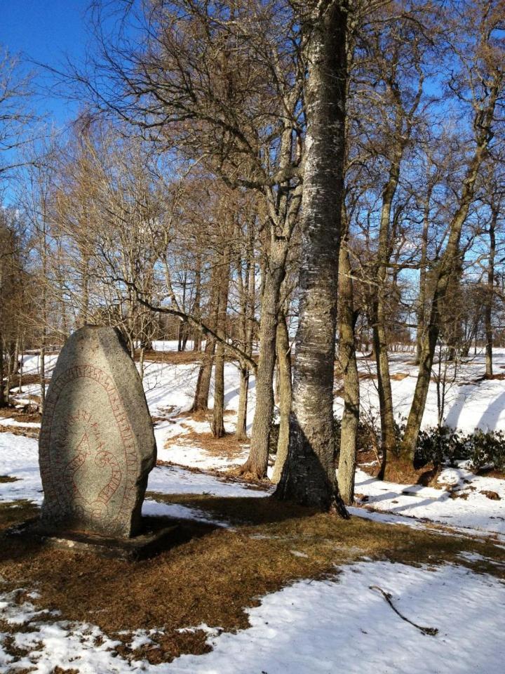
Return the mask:
{"type": "Polygon", "coordinates": [[[156,442],[135,363],[114,328],[84,326],[63,347],[44,405],[39,463],[50,529],[121,538],[140,531],[156,442]]]}

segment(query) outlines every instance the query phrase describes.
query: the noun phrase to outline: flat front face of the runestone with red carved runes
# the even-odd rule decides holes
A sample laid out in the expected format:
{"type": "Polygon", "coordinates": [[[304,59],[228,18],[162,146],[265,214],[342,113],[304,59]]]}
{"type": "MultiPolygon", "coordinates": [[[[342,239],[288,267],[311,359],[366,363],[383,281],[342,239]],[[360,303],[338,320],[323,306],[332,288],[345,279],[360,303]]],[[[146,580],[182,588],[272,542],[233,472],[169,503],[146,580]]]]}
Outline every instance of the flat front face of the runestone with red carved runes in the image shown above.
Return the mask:
{"type": "Polygon", "coordinates": [[[50,517],[121,528],[135,505],[138,458],[112,378],[90,364],[68,369],[53,382],[44,416],[40,463],[50,517]]]}

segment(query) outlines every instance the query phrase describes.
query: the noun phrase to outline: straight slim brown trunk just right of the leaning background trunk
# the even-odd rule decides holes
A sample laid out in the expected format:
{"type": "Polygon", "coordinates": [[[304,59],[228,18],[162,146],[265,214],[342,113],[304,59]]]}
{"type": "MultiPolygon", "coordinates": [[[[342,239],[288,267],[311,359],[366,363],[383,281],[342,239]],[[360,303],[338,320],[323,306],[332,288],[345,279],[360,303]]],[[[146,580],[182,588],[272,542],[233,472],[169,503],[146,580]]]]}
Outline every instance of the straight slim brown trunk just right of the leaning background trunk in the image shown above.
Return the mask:
{"type": "Polygon", "coordinates": [[[225,245],[222,253],[219,283],[219,310],[217,312],[217,340],[214,363],[214,409],[212,432],[214,437],[223,437],[224,430],[224,337],[226,336],[226,319],[229,291],[230,249],[225,245]]]}

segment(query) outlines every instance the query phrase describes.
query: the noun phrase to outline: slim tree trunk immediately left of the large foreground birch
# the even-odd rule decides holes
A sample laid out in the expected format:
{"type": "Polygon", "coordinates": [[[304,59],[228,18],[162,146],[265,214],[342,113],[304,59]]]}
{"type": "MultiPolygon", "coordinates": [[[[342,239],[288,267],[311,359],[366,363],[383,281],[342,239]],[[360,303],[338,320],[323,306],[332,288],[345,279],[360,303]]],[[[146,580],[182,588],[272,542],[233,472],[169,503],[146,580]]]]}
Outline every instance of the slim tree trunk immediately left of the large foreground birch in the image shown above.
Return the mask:
{"type": "Polygon", "coordinates": [[[288,324],[284,312],[279,315],[277,324],[277,362],[278,362],[278,393],[279,393],[279,435],[277,441],[276,462],[271,481],[277,484],[281,480],[282,471],[289,447],[289,423],[292,398],[291,355],[288,334],[288,324]]]}

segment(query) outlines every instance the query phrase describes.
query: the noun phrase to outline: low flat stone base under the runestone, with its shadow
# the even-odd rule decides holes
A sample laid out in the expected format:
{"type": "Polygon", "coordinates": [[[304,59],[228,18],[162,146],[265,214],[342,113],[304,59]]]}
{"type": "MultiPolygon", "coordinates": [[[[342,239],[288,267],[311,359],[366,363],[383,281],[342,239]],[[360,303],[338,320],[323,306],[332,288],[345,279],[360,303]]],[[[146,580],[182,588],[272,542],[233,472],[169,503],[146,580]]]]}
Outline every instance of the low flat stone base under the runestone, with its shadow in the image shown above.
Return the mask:
{"type": "Polygon", "coordinates": [[[167,550],[177,540],[179,525],[163,517],[142,517],[142,529],[133,538],[109,538],[86,531],[50,529],[36,517],[5,532],[6,536],[29,536],[48,548],[93,553],[127,561],[144,560],[167,550]]]}

